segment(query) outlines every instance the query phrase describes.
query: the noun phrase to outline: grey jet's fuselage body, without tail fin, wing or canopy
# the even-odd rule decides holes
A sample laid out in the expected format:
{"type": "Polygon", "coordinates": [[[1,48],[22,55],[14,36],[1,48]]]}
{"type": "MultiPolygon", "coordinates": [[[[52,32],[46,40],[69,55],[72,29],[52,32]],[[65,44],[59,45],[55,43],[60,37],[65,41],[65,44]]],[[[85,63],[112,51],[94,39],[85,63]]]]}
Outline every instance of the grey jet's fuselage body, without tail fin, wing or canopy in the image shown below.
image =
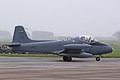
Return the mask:
{"type": "MultiPolygon", "coordinates": [[[[21,43],[21,46],[13,47],[13,51],[18,52],[38,52],[38,53],[53,53],[55,51],[64,50],[64,45],[67,44],[81,44],[79,40],[68,41],[50,41],[50,42],[33,42],[33,43],[21,43]]],[[[93,55],[101,55],[109,53],[112,48],[108,45],[91,45],[90,48],[83,49],[84,52],[91,53],[93,55]]]]}

